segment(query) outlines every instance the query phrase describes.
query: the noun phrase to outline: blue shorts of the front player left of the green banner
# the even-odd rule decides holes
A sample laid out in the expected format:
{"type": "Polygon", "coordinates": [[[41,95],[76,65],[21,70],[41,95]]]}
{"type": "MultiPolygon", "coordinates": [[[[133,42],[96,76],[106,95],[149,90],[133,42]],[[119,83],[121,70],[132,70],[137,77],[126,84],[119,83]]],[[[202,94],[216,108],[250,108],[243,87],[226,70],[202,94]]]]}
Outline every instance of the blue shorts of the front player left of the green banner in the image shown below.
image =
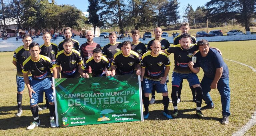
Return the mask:
{"type": "Polygon", "coordinates": [[[36,92],[32,93],[30,98],[30,105],[35,105],[43,101],[43,92],[47,95],[49,102],[54,102],[54,95],[52,90],[52,77],[42,80],[32,80],[30,82],[31,88],[36,92]]]}

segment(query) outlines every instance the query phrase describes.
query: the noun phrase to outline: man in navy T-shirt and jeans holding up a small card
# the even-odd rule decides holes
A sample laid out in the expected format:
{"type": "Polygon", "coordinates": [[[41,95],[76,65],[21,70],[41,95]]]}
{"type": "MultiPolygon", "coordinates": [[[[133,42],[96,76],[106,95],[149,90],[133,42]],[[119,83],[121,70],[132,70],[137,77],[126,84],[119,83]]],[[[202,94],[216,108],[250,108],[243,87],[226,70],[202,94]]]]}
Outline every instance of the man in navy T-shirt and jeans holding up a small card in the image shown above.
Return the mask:
{"type": "Polygon", "coordinates": [[[214,108],[212,98],[209,94],[211,89],[218,89],[221,97],[222,105],[222,124],[229,123],[230,116],[230,87],[229,87],[229,71],[228,66],[223,61],[220,53],[209,48],[207,40],[200,40],[197,43],[199,52],[194,55],[195,61],[190,61],[188,66],[192,72],[198,73],[200,67],[204,71],[201,81],[203,89],[203,99],[207,104],[204,109],[214,108]]]}

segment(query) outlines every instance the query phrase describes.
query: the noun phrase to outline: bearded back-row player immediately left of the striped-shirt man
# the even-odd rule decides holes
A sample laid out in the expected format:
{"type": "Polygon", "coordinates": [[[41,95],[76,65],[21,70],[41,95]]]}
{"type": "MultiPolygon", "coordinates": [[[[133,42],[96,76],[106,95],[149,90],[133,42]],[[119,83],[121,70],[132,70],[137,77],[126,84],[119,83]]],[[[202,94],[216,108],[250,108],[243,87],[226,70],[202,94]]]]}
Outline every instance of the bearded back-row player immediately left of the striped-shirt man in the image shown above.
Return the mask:
{"type": "MultiPolygon", "coordinates": [[[[63,30],[63,33],[64,33],[65,38],[71,38],[72,37],[72,31],[71,31],[70,27],[65,27],[64,30],[63,30]]],[[[72,42],[73,42],[73,45],[74,45],[73,49],[78,51],[79,50],[79,42],[74,40],[74,39],[72,39],[72,42]]],[[[59,43],[59,46],[58,46],[58,51],[59,52],[64,49],[63,44],[64,44],[64,40],[59,43]]]]}

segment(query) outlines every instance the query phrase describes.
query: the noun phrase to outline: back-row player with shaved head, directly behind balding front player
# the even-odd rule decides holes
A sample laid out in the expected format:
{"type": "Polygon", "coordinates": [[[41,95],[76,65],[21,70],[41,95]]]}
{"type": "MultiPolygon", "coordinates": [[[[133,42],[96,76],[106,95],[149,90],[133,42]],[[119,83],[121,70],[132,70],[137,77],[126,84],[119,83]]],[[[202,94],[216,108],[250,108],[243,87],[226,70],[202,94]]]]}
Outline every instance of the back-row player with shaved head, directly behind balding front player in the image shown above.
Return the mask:
{"type": "MultiPolygon", "coordinates": [[[[158,40],[161,43],[161,50],[165,50],[170,47],[169,41],[167,39],[164,39],[161,37],[162,29],[160,27],[155,28],[154,34],[155,34],[155,38],[148,42],[148,47],[147,47],[148,51],[151,51],[150,46],[152,45],[152,42],[154,40],[158,40]]],[[[166,79],[166,83],[168,83],[168,82],[169,82],[169,75],[167,75],[167,79],[166,79]]],[[[156,94],[156,88],[155,88],[155,86],[153,86],[153,90],[152,90],[152,94],[151,94],[152,97],[149,102],[150,104],[155,103],[155,94],[156,94]]]]}

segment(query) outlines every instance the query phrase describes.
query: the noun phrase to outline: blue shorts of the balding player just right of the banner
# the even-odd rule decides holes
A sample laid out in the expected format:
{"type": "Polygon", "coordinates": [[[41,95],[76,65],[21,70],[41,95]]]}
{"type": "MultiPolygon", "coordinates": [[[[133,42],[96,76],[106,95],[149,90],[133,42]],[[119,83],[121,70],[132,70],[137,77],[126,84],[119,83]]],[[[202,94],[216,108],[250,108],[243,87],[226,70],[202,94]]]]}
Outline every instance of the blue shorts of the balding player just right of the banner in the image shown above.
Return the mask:
{"type": "Polygon", "coordinates": [[[143,82],[144,93],[152,93],[153,85],[155,85],[157,93],[168,92],[166,83],[161,84],[160,81],[153,81],[146,78],[143,78],[142,82],[143,82]]]}

